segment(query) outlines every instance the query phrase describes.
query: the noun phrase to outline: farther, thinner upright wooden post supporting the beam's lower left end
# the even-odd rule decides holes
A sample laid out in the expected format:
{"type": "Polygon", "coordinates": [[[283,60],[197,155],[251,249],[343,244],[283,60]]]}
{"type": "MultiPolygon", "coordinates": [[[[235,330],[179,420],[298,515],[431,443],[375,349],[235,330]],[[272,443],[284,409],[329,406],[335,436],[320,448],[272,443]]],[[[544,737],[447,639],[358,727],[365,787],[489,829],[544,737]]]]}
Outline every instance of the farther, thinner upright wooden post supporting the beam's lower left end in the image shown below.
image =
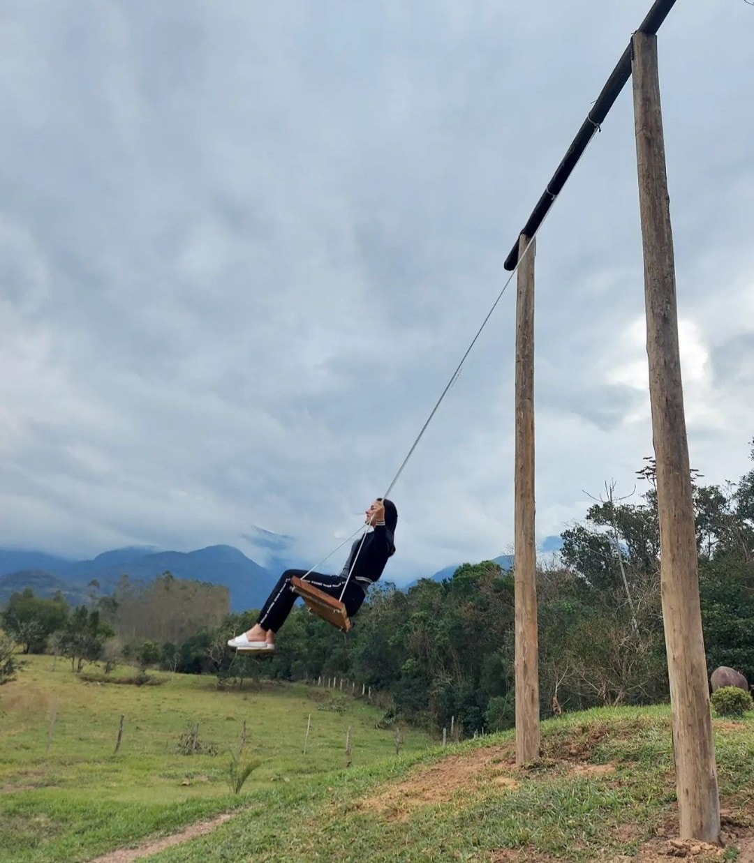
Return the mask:
{"type": "Polygon", "coordinates": [[[516,764],[522,765],[539,757],[540,743],[534,498],[535,240],[529,244],[529,237],[522,234],[518,240],[518,255],[513,572],[516,592],[516,764]]]}

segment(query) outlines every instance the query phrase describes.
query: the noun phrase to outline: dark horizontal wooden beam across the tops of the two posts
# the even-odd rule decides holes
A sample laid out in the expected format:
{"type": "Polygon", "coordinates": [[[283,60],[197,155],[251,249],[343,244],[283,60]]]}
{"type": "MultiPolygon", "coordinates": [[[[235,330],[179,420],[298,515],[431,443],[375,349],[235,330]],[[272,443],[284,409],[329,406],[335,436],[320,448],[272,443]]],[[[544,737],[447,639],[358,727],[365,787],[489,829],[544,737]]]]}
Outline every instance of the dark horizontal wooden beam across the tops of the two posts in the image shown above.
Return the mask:
{"type": "MultiPolygon", "coordinates": [[[[662,26],[662,22],[668,17],[668,12],[675,5],[675,0],[656,0],[647,16],[644,18],[641,26],[638,28],[638,33],[647,33],[656,35],[657,30],[662,26]]],[[[599,129],[600,124],[607,117],[615,100],[618,98],[620,91],[623,90],[626,81],[630,78],[631,73],[631,46],[630,42],[623,54],[621,54],[618,64],[612,70],[610,78],[605,82],[605,86],[599,93],[597,100],[592,105],[592,110],[586,115],[586,120],[581,123],[581,128],[573,138],[571,146],[567,149],[561,164],[555,170],[552,179],[549,181],[542,192],[542,197],[536,202],[535,208],[531,211],[531,215],[519,231],[525,236],[535,236],[536,231],[542,224],[544,217],[547,216],[550,207],[553,205],[554,199],[560,194],[563,186],[566,185],[568,178],[576,167],[581,155],[586,150],[588,143],[592,140],[592,135],[599,129]]],[[[505,269],[516,269],[518,264],[518,237],[513,248],[510,249],[508,257],[505,259],[505,269]]]]}

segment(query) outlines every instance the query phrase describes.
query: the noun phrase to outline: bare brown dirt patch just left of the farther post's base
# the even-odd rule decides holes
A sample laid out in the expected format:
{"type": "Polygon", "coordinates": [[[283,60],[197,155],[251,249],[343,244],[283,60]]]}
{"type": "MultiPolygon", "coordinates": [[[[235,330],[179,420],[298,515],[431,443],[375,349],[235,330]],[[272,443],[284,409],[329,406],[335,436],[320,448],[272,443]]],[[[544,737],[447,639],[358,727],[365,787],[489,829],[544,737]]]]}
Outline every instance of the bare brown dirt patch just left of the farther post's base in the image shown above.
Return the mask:
{"type": "Polygon", "coordinates": [[[402,783],[367,797],[360,806],[377,809],[395,820],[421,806],[448,803],[459,791],[470,788],[491,784],[497,788],[517,788],[516,778],[506,775],[510,772],[512,751],[511,746],[492,746],[466,755],[448,755],[434,765],[416,770],[402,783]]]}

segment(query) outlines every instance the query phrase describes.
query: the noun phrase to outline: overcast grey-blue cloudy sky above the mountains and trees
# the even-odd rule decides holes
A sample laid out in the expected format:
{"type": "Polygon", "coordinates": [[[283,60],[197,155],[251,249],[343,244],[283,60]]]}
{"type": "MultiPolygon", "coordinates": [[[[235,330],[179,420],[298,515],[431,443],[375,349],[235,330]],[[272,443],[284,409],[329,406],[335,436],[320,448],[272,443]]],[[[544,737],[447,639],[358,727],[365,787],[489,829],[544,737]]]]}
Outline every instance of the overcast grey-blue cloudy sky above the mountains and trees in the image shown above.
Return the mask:
{"type": "MultiPolygon", "coordinates": [[[[317,563],[649,4],[6,0],[0,545],[264,564],[258,527],[317,563]]],[[[679,0],[659,51],[691,461],[724,482],[754,437],[754,8],[679,0]]],[[[537,243],[542,542],[652,452],[630,87],[537,243]]],[[[397,583],[510,551],[514,287],[391,494],[397,583]]]]}

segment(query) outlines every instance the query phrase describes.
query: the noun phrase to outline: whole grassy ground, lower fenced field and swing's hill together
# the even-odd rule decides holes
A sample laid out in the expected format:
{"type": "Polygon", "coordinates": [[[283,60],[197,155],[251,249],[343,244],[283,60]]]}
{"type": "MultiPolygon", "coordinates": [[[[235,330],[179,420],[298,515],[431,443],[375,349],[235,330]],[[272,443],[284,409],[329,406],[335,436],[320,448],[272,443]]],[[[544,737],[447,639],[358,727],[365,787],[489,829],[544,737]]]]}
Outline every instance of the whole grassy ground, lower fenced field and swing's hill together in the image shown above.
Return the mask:
{"type": "Polygon", "coordinates": [[[510,733],[443,749],[403,728],[396,756],[392,730],[375,728],[379,711],[339,691],[217,691],[210,678],[180,675],[139,689],[87,685],[51,665],[33,658],[0,690],[3,861],[94,860],[221,814],[229,817],[207,835],[193,828],[179,845],[141,853],[160,863],[754,860],[754,715],[713,723],[728,841],[713,848],[673,844],[667,707],[545,722],[542,759],[519,770],[510,733]],[[261,763],[233,795],[225,774],[244,720],[247,750],[261,763]],[[189,722],[218,754],[176,752],[189,722]]]}

